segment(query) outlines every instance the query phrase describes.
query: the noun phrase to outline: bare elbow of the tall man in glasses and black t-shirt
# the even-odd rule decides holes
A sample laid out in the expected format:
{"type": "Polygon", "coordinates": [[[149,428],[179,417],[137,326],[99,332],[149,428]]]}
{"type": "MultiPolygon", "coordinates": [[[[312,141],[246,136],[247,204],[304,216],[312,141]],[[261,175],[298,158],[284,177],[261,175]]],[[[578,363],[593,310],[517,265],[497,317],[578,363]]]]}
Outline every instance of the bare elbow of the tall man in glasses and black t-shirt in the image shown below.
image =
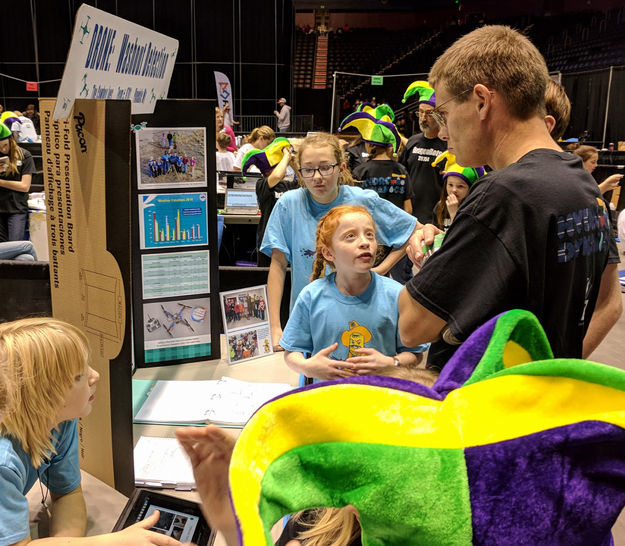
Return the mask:
{"type": "Polygon", "coordinates": [[[399,337],[405,347],[436,341],[447,324],[417,302],[404,287],[399,293],[399,337]]]}

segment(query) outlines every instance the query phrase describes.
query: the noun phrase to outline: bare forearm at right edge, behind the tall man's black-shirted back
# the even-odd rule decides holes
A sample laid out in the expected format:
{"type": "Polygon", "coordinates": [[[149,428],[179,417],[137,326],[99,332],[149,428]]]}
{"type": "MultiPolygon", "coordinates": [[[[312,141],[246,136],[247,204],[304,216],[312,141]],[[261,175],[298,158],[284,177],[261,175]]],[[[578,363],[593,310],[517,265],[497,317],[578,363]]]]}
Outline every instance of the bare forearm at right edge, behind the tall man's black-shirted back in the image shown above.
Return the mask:
{"type": "Polygon", "coordinates": [[[582,358],[588,358],[603,341],[623,312],[618,264],[608,264],[601,275],[595,311],[584,336],[582,358]]]}

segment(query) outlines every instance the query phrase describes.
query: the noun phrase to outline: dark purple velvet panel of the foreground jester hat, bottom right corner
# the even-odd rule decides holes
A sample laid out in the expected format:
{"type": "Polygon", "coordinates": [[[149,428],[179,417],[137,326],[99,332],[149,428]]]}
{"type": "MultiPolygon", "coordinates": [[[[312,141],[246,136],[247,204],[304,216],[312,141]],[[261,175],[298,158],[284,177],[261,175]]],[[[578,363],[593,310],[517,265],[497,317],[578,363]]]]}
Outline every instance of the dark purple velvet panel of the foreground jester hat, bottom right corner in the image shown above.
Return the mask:
{"type": "Polygon", "coordinates": [[[609,544],[624,451],[625,430],[598,421],[466,448],[473,543],[609,544]]]}

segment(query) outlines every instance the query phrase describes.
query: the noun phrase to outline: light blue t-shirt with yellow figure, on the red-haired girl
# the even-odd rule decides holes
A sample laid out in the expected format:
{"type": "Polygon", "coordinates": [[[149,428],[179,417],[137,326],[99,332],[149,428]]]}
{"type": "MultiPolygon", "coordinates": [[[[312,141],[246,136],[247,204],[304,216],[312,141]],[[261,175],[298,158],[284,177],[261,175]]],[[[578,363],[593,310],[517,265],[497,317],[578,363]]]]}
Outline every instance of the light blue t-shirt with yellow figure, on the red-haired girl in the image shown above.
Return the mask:
{"type": "Polygon", "coordinates": [[[346,296],[336,286],[336,273],[304,287],[287,322],[280,345],[287,351],[315,354],[338,342],[330,358],[345,360],[360,347],[387,356],[403,351],[422,353],[429,343],[406,348],[397,325],[397,300],[403,288],[397,281],[371,273],[371,282],[358,296],[346,296]]]}

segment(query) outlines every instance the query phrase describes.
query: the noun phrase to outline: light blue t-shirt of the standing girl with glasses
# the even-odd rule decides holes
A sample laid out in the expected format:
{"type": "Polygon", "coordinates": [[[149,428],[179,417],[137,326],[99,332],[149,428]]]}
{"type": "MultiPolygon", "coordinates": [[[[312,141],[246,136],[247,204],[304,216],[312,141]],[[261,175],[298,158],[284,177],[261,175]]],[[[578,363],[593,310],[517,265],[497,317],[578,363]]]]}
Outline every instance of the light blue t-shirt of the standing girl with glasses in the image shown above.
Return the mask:
{"type": "Polygon", "coordinates": [[[286,192],[276,203],[260,251],[271,257],[276,248],[284,252],[291,264],[291,302],[309,282],[315,260],[315,232],[321,217],[339,205],[361,205],[373,216],[379,244],[398,248],[412,235],[417,220],[376,192],[356,186],[339,186],[337,198],[322,205],[305,188],[286,192]]]}

